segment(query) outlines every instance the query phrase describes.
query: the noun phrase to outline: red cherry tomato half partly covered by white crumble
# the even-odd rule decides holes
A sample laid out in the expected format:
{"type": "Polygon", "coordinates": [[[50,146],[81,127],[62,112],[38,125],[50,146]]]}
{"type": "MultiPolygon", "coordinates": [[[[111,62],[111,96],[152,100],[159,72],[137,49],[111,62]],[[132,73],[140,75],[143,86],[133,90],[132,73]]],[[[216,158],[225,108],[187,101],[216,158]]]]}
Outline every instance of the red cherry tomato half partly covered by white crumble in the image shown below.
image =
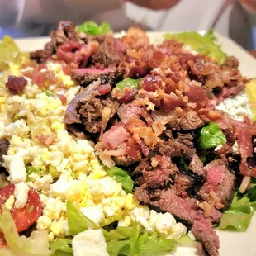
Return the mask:
{"type": "MultiPolygon", "coordinates": [[[[14,184],[7,185],[0,190],[0,206],[5,204],[11,195],[14,195],[14,191],[14,184]]],[[[42,204],[36,190],[32,187],[29,190],[26,206],[21,209],[12,206],[10,212],[18,232],[24,231],[33,225],[42,213],[42,204]]]]}

